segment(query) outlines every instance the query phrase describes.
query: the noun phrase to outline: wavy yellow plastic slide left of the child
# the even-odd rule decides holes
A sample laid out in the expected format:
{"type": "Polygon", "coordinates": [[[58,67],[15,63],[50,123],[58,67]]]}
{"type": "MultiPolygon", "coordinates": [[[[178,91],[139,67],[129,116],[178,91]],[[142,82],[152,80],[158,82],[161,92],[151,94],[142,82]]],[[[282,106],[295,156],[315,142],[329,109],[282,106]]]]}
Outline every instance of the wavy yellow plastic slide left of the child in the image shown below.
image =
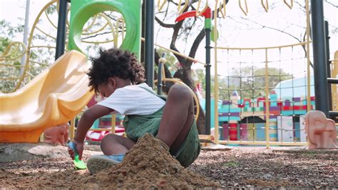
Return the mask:
{"type": "Polygon", "coordinates": [[[76,116],[93,96],[86,71],[86,56],[68,51],[23,88],[0,94],[0,142],[38,142],[76,116]]]}

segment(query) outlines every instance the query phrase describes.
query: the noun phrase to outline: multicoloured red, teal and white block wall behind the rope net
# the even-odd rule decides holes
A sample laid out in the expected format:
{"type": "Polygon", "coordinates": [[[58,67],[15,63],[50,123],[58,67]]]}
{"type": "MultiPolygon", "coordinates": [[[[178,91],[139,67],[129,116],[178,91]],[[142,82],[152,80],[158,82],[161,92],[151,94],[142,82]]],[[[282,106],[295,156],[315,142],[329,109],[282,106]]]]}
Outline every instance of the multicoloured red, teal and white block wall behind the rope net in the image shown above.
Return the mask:
{"type": "MultiPolygon", "coordinates": [[[[304,134],[304,115],[307,113],[307,97],[277,98],[275,91],[269,95],[269,136],[270,141],[306,141],[304,134]]],[[[212,99],[211,110],[214,107],[212,99]]],[[[314,109],[314,96],[310,97],[310,109],[314,109]]],[[[201,102],[203,104],[203,101],[201,102]]],[[[220,140],[266,141],[265,97],[240,99],[237,91],[230,100],[218,104],[220,140]]],[[[211,113],[213,120],[214,113],[211,113]]],[[[212,123],[212,128],[215,124],[212,123]]]]}

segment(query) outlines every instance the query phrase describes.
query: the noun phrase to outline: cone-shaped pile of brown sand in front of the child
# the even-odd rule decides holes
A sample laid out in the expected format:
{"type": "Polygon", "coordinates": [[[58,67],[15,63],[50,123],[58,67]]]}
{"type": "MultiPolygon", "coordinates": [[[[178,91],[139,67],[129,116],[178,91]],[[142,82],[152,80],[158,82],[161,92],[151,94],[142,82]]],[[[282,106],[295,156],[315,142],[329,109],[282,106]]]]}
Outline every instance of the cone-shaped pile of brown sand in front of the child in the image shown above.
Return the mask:
{"type": "Polygon", "coordinates": [[[220,186],[183,168],[150,135],[140,138],[121,164],[78,180],[73,187],[195,189],[220,186]]]}

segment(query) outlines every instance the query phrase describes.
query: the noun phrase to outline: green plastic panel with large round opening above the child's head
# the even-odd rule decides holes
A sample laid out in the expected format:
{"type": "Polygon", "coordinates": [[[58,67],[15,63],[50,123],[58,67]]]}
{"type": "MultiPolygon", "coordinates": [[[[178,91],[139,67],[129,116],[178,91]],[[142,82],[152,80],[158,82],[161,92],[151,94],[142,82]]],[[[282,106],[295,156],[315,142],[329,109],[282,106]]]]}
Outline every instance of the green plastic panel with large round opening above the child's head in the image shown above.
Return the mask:
{"type": "Polygon", "coordinates": [[[139,0],[72,0],[68,49],[76,49],[86,54],[81,47],[83,26],[88,19],[100,12],[116,11],[122,14],[126,22],[126,36],[120,48],[134,52],[140,59],[140,10],[139,0]]]}

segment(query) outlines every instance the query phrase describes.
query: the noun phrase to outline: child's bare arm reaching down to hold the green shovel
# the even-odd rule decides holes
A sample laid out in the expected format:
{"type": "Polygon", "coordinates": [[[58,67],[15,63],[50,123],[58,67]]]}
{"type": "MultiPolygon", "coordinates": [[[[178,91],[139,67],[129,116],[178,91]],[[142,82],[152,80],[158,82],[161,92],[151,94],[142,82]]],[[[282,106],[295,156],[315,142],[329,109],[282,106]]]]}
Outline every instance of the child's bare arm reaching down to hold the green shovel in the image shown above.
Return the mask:
{"type": "MultiPolygon", "coordinates": [[[[73,142],[76,144],[76,151],[78,151],[79,159],[82,159],[83,141],[86,138],[88,130],[91,129],[94,121],[101,116],[106,116],[107,114],[110,114],[113,111],[113,109],[96,104],[94,106],[91,106],[91,108],[87,109],[83,113],[80,121],[78,121],[78,127],[76,128],[76,134],[73,139],[73,142]]],[[[68,153],[73,159],[73,150],[68,149],[68,153]]]]}

